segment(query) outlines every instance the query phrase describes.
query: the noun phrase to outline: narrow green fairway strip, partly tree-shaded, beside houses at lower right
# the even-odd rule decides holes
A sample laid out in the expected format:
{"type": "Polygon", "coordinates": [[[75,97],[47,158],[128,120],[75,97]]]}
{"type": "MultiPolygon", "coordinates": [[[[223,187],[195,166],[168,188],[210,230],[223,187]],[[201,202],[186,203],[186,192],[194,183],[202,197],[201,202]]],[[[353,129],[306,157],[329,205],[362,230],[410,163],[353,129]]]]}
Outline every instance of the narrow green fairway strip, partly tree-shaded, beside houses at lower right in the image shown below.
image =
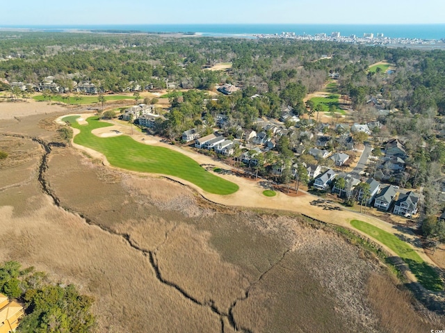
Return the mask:
{"type": "Polygon", "coordinates": [[[368,234],[372,238],[380,241],[381,243],[387,245],[391,250],[396,252],[396,254],[407,263],[410,270],[414,275],[416,275],[419,283],[422,284],[426,289],[432,291],[441,291],[444,288],[442,279],[440,279],[437,272],[428,265],[419,254],[407,243],[401,241],[399,238],[389,232],[385,232],[378,227],[374,227],[369,223],[352,220],[350,224],[359,229],[360,231],[368,234]]]}

